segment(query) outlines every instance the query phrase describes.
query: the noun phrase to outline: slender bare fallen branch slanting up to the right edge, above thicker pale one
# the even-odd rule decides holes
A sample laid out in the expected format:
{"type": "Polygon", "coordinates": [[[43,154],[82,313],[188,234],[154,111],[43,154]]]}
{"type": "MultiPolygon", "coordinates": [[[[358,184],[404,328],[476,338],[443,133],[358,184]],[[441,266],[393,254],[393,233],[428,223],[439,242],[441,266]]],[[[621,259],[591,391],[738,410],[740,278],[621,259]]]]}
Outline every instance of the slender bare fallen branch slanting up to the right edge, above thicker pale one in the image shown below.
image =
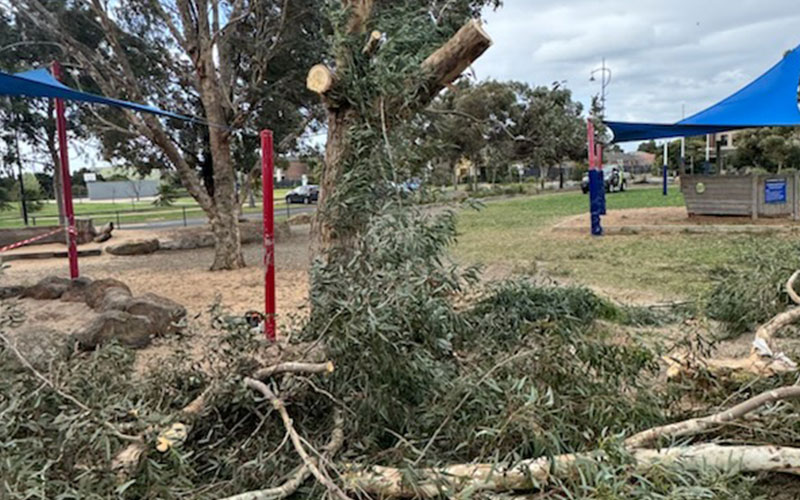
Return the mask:
{"type": "Polygon", "coordinates": [[[707,429],[719,424],[724,424],[761,408],[769,403],[785,399],[800,398],[800,386],[787,386],[774,389],[754,396],[747,401],[728,410],[709,415],[702,418],[692,418],[674,424],[654,427],[638,434],[634,434],[625,440],[625,446],[640,448],[652,444],[659,438],[677,438],[700,434],[707,429]]]}

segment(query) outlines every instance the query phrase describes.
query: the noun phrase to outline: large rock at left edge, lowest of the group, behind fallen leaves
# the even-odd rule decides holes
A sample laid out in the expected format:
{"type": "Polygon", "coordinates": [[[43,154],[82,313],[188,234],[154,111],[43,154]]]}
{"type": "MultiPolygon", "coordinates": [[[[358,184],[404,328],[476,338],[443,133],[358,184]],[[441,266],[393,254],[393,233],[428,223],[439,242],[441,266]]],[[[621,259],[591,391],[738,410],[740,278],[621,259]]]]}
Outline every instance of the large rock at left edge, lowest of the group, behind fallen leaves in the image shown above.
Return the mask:
{"type": "MultiPolygon", "coordinates": [[[[50,363],[56,359],[66,356],[67,336],[51,328],[41,326],[22,326],[19,329],[11,330],[7,333],[9,341],[16,347],[22,356],[34,368],[40,371],[47,371],[50,363]]],[[[6,362],[12,370],[22,371],[27,368],[19,361],[13,353],[6,354],[6,362]]]]}

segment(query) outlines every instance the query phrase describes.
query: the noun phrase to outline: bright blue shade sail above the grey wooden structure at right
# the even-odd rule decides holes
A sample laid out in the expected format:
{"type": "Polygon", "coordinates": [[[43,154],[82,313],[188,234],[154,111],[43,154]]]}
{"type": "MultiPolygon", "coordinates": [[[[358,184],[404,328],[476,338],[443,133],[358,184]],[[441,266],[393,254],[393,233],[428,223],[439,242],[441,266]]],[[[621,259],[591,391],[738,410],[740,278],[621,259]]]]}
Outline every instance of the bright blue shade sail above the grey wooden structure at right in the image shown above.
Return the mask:
{"type": "Polygon", "coordinates": [[[717,104],[675,124],[604,122],[613,142],[715,134],[751,127],[800,125],[800,47],[753,82],[717,104]]]}

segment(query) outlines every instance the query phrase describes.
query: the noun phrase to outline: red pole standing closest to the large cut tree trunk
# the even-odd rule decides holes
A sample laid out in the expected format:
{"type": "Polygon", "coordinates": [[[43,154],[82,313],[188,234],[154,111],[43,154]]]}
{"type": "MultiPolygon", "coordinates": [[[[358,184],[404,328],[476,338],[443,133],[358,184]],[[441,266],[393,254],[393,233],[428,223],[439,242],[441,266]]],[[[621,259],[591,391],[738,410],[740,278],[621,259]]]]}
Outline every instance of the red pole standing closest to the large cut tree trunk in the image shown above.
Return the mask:
{"type": "Polygon", "coordinates": [[[264,305],[266,319],[264,332],[267,339],[275,341],[275,204],[272,198],[272,131],[261,131],[261,190],[264,215],[264,305]]]}

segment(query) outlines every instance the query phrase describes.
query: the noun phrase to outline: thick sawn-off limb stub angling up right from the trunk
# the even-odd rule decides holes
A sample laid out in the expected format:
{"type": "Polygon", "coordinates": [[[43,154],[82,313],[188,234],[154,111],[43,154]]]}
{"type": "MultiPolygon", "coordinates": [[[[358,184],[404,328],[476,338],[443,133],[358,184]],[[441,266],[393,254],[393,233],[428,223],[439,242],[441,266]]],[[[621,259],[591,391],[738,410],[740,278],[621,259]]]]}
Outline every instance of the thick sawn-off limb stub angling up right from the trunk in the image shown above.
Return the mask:
{"type": "Polygon", "coordinates": [[[491,45],[492,39],[479,20],[473,19],[462,26],[422,62],[422,69],[428,74],[426,88],[429,98],[458,78],[491,45]]]}

